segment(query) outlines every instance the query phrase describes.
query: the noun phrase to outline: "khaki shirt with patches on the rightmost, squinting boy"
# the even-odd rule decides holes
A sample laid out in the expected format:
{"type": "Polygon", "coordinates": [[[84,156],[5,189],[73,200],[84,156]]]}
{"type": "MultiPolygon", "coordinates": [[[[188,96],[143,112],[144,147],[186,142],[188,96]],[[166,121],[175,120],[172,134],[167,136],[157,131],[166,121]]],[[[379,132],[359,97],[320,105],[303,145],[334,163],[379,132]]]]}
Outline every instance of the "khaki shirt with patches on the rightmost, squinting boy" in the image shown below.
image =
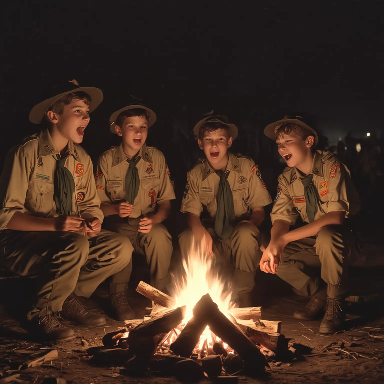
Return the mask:
{"type": "MultiPolygon", "coordinates": [[[[313,157],[313,184],[318,191],[318,205],[314,219],[334,211],[345,211],[346,217],[355,215],[360,209],[359,196],[352,183],[348,168],[336,154],[316,151],[313,157]]],[[[285,220],[295,224],[300,214],[303,222],[309,223],[306,214],[304,177],[295,167],[287,167],[278,177],[278,188],[271,220],[285,220]]]]}

